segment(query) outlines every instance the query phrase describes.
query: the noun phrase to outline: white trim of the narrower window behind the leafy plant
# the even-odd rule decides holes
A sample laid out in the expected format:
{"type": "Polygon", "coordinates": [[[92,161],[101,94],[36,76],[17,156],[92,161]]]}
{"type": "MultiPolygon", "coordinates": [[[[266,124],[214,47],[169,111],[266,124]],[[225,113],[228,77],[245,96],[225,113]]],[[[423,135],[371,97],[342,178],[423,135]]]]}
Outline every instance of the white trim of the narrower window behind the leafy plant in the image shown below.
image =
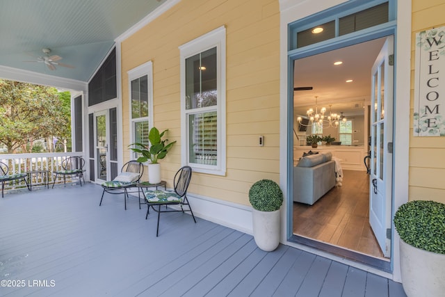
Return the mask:
{"type": "MultiPolygon", "coordinates": [[[[129,93],[129,122],[130,122],[130,143],[134,143],[134,123],[148,120],[148,128],[153,127],[153,63],[148,61],[147,63],[141,64],[127,71],[128,75],[128,93],[129,93]],[[147,75],[147,86],[148,86],[148,117],[144,118],[131,118],[131,81],[138,79],[147,75]]],[[[133,151],[129,150],[129,157],[133,159],[133,151]]]]}

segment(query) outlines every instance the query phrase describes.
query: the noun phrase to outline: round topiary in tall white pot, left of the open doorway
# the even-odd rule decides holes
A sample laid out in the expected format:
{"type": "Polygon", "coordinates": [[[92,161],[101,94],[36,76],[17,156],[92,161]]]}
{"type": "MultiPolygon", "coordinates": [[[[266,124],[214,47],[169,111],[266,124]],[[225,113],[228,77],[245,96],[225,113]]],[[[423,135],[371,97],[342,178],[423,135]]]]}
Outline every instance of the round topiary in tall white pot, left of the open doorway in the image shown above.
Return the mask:
{"type": "Polygon", "coordinates": [[[276,182],[261,179],[249,191],[252,204],[252,224],[255,243],[266,252],[271,252],[280,244],[280,207],[283,192],[276,182]]]}

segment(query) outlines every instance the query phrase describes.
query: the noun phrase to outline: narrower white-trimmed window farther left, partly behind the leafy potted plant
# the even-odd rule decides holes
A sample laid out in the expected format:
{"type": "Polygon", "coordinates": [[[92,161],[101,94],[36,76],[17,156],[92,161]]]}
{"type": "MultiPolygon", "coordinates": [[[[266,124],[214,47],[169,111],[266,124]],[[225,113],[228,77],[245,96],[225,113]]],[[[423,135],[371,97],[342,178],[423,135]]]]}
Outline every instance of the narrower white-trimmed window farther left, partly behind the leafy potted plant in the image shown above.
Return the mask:
{"type": "MultiPolygon", "coordinates": [[[[147,62],[129,70],[130,143],[149,144],[149,127],[153,127],[153,65],[147,62]]],[[[131,152],[131,159],[138,155],[131,152]]]]}

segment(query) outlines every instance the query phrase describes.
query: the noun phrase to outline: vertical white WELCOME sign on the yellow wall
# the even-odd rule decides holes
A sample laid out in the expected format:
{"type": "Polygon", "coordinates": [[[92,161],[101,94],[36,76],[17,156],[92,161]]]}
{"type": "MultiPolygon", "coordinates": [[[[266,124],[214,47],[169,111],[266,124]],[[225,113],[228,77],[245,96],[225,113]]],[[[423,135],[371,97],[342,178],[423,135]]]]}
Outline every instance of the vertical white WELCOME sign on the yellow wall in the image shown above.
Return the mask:
{"type": "Polygon", "coordinates": [[[416,34],[414,136],[445,136],[445,26],[416,34]]]}

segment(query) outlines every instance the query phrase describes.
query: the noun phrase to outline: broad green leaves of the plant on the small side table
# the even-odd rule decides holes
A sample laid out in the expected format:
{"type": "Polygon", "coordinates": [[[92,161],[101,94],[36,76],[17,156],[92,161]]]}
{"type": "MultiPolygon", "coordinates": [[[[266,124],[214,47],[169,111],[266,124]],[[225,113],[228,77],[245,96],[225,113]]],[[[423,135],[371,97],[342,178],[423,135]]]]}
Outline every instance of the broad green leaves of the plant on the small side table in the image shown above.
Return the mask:
{"type": "Polygon", "coordinates": [[[142,154],[142,156],[138,158],[138,162],[143,163],[149,160],[150,163],[156,164],[158,163],[159,159],[165,158],[168,150],[170,150],[170,148],[172,148],[172,146],[176,143],[176,141],[173,141],[172,143],[168,143],[168,145],[165,144],[168,139],[161,138],[164,136],[166,131],[168,131],[168,129],[164,130],[162,133],[159,133],[159,130],[156,129],[156,127],[150,129],[148,140],[151,146],[143,143],[131,143],[131,145],[129,145],[136,146],[130,148],[133,152],[142,154]]]}

